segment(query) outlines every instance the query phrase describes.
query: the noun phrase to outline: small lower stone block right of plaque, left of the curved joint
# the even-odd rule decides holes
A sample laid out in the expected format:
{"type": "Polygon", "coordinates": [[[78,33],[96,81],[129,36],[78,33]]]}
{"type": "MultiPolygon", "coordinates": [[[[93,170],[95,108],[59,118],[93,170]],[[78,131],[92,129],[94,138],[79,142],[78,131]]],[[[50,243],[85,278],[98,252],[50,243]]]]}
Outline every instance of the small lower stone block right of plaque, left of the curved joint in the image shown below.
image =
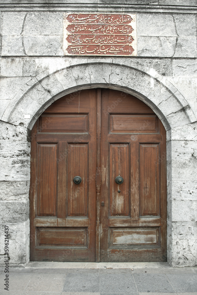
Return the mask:
{"type": "Polygon", "coordinates": [[[172,57],[175,53],[176,37],[159,37],[159,56],[172,57]]]}

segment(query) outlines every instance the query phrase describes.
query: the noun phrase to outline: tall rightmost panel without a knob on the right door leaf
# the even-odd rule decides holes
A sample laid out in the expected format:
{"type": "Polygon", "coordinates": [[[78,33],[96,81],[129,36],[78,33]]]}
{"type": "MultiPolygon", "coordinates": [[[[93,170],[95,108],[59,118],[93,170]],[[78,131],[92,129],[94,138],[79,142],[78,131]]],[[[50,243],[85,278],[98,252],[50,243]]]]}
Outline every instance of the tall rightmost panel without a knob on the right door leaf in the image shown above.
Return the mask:
{"type": "Polygon", "coordinates": [[[159,144],[140,144],[140,216],[159,216],[159,144]]]}

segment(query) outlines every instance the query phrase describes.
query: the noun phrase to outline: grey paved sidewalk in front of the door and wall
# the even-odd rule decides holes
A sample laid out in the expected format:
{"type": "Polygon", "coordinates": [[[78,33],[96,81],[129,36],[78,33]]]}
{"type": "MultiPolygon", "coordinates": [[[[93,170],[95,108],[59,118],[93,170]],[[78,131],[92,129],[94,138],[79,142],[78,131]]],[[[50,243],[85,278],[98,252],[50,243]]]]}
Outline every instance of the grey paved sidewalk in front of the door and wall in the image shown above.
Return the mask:
{"type": "Polygon", "coordinates": [[[9,268],[9,293],[4,279],[1,268],[1,295],[197,295],[197,267],[172,268],[167,262],[30,262],[9,268]]]}

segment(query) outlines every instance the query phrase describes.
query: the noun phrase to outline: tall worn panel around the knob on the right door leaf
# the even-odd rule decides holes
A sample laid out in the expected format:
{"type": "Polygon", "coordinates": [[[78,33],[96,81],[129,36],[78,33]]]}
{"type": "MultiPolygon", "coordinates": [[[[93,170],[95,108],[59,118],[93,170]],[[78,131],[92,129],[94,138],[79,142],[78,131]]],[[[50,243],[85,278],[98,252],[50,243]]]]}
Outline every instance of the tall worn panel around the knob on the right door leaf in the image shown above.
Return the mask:
{"type": "Polygon", "coordinates": [[[110,216],[129,216],[129,144],[111,143],[109,158],[110,216]],[[123,177],[123,183],[115,182],[117,176],[123,177]]]}

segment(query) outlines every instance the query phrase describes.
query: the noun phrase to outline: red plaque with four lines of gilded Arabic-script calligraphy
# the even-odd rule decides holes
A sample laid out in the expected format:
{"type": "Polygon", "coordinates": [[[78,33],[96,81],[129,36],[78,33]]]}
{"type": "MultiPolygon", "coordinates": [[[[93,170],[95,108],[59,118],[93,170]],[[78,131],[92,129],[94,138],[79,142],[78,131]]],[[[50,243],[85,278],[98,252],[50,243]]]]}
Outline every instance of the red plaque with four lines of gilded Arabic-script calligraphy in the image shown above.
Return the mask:
{"type": "Polygon", "coordinates": [[[64,13],[64,55],[136,56],[136,15],[64,13]]]}

